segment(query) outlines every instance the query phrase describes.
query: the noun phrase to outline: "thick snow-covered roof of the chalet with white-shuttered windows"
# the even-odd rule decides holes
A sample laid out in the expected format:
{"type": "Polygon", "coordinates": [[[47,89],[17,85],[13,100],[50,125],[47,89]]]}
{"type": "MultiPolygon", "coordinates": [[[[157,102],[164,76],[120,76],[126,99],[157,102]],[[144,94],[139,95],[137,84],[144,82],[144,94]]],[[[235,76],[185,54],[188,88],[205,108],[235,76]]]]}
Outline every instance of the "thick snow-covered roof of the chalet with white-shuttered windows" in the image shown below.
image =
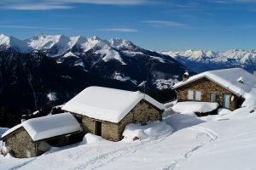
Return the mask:
{"type": "Polygon", "coordinates": [[[241,68],[202,72],[193,77],[189,77],[185,82],[177,82],[173,88],[179,88],[189,82],[195,82],[202,77],[206,77],[212,82],[230,90],[233,94],[242,97],[245,97],[245,94],[251,93],[256,89],[256,77],[241,68]],[[237,81],[240,77],[243,78],[243,83],[237,81]]]}

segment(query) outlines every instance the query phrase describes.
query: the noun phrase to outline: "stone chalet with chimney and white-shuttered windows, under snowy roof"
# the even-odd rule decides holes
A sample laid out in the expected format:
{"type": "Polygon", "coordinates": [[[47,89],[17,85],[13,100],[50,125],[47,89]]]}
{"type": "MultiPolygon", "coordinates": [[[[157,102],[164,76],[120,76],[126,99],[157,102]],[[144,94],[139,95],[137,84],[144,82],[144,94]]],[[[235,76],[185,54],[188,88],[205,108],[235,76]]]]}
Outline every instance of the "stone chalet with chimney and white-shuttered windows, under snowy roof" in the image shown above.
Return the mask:
{"type": "Polygon", "coordinates": [[[241,107],[245,94],[256,88],[256,77],[241,68],[206,71],[177,82],[177,101],[217,102],[231,111],[241,107]]]}

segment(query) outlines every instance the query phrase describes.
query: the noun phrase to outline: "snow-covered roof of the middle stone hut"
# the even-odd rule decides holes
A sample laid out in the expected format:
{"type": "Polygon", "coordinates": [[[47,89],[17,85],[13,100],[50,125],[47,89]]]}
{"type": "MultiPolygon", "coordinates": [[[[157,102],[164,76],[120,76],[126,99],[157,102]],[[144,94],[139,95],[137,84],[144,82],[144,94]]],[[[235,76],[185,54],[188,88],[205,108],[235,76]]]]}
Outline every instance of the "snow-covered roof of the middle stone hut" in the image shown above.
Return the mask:
{"type": "Polygon", "coordinates": [[[102,121],[120,122],[142,99],[160,110],[165,109],[160,102],[139,91],[89,87],[63,105],[62,110],[102,121]]]}

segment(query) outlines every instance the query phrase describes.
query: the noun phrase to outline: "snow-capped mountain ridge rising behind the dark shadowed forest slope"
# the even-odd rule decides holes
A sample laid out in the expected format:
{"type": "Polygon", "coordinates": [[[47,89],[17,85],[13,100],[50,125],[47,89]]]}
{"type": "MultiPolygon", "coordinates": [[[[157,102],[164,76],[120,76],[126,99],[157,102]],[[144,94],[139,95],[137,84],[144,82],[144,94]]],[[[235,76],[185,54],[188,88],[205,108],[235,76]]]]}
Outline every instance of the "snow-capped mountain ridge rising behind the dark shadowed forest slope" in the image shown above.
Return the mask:
{"type": "Polygon", "coordinates": [[[0,49],[26,54],[37,50],[58,64],[76,66],[99,77],[121,82],[148,81],[151,88],[170,88],[187,68],[164,54],[138,47],[120,38],[43,35],[19,40],[0,35],[0,49]]]}

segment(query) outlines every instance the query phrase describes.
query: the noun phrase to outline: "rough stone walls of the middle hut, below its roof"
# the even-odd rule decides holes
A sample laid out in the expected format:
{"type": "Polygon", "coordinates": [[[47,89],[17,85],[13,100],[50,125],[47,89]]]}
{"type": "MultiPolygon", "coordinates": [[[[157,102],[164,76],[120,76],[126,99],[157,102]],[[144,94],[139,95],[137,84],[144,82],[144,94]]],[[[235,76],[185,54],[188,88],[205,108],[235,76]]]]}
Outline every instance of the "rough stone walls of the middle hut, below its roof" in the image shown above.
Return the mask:
{"type": "MultiPolygon", "coordinates": [[[[76,116],[76,115],[75,115],[76,116]]],[[[161,111],[149,104],[147,101],[140,101],[119,123],[104,122],[83,116],[82,127],[87,133],[96,134],[96,123],[102,123],[102,138],[112,141],[119,141],[122,139],[122,133],[125,126],[129,123],[137,122],[146,125],[149,121],[162,120],[161,111]]]]}

